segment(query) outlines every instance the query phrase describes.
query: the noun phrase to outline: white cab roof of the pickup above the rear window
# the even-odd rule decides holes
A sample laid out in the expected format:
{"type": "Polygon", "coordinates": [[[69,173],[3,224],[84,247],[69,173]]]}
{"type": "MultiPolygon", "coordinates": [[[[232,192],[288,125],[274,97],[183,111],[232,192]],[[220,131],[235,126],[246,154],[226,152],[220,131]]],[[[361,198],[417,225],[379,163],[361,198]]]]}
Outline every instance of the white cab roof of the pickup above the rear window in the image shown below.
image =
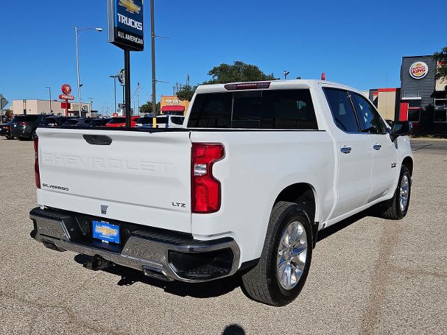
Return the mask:
{"type": "MultiPolygon", "coordinates": [[[[226,89],[226,85],[237,85],[237,84],[258,84],[258,83],[270,83],[270,87],[268,88],[262,88],[259,89],[307,89],[309,87],[317,86],[318,84],[330,84],[331,86],[336,86],[344,89],[350,89],[353,91],[358,91],[356,89],[353,89],[351,87],[347,87],[346,85],[339,84],[337,82],[328,82],[325,80],[265,80],[262,82],[231,82],[228,84],[210,84],[210,85],[199,85],[197,87],[196,93],[217,93],[222,91],[229,91],[226,89]]],[[[249,90],[249,89],[240,89],[241,91],[249,90]]]]}

